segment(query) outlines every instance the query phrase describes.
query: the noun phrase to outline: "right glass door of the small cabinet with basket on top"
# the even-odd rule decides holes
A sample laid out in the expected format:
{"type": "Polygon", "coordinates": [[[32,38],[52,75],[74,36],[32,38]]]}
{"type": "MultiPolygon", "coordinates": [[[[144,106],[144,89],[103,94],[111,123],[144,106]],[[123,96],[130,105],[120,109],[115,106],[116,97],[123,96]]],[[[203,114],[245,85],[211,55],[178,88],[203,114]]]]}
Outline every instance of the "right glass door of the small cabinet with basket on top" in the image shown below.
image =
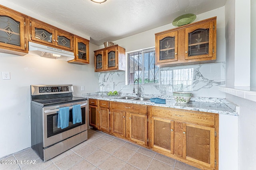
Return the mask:
{"type": "Polygon", "coordinates": [[[112,47],[106,50],[107,64],[106,69],[117,68],[117,47],[112,47]]]}

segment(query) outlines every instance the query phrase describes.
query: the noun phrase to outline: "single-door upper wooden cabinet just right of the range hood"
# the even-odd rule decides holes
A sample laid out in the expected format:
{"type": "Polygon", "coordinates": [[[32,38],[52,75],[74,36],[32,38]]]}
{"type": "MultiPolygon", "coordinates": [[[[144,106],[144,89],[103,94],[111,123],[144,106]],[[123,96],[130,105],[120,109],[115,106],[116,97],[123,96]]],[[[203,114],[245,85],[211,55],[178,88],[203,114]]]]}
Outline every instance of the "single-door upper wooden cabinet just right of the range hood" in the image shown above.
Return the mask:
{"type": "Polygon", "coordinates": [[[74,60],[68,61],[68,63],[74,64],[89,64],[89,40],[82,37],[74,37],[74,60]]]}

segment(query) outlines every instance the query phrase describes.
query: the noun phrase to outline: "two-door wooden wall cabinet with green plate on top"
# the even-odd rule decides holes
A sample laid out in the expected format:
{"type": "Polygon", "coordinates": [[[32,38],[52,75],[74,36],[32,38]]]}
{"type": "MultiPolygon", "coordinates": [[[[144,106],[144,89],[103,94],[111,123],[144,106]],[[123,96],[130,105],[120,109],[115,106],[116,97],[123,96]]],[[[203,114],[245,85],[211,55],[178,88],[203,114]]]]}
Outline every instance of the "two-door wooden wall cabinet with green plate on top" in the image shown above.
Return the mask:
{"type": "Polygon", "coordinates": [[[156,65],[210,63],[216,60],[216,17],[155,34],[156,65]]]}

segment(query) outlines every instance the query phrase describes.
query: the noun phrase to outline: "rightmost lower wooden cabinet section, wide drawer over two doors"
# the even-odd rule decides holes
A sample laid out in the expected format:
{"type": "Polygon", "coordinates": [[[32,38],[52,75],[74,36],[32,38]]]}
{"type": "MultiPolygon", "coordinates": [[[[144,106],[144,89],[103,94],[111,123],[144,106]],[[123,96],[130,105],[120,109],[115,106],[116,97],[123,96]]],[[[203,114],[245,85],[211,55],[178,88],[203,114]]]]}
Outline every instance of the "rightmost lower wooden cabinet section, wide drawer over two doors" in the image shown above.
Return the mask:
{"type": "Polygon", "coordinates": [[[218,114],[152,107],[152,150],[203,170],[216,170],[218,114]]]}

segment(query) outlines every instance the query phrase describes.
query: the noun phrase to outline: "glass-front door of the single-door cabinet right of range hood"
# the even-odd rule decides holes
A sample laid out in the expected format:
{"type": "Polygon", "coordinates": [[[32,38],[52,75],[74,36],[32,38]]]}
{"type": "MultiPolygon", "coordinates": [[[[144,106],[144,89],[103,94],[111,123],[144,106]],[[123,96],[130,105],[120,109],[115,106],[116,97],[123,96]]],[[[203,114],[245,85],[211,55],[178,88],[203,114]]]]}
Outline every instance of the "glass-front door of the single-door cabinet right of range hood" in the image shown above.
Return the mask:
{"type": "Polygon", "coordinates": [[[89,41],[75,37],[76,41],[76,61],[89,64],[89,41]]]}

